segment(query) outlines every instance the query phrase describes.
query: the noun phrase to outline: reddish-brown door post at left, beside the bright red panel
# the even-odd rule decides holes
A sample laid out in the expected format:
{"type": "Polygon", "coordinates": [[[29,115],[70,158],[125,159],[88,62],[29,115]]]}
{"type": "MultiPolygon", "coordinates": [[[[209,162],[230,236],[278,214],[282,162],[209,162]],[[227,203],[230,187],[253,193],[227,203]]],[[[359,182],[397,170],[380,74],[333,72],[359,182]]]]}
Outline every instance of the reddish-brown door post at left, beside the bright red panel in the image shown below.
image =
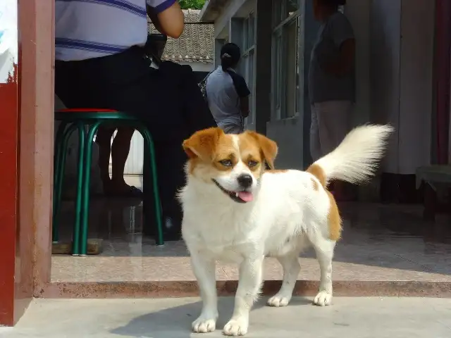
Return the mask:
{"type": "MultiPolygon", "coordinates": [[[[0,0],[4,1],[4,0],[0,0]]],[[[55,0],[18,0],[19,208],[15,321],[51,273],[55,0]]]]}

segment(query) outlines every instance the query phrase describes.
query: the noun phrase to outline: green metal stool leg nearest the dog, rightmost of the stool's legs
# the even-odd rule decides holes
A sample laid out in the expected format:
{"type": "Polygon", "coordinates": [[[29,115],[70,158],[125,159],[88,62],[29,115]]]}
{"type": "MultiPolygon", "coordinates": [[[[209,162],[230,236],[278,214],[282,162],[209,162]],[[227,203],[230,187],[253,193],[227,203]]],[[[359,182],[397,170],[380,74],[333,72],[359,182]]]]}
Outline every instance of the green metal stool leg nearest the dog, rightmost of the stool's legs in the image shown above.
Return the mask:
{"type": "Polygon", "coordinates": [[[155,147],[154,142],[152,140],[152,136],[147,130],[147,127],[140,127],[139,132],[142,134],[144,138],[144,142],[147,146],[147,150],[149,151],[149,168],[152,175],[152,185],[154,186],[154,201],[155,201],[155,220],[156,220],[156,229],[157,229],[157,237],[156,237],[156,245],[162,246],[164,245],[163,239],[163,220],[161,215],[161,201],[159,194],[159,185],[158,185],[158,175],[156,173],[156,159],[155,159],[155,147]]]}

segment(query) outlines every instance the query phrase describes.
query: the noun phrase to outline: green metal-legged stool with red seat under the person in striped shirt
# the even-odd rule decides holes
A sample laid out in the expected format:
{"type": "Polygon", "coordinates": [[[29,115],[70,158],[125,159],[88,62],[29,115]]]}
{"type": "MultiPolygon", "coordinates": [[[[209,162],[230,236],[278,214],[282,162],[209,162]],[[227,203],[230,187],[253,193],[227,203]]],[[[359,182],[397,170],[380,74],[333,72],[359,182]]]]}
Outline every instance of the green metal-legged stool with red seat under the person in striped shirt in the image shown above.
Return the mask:
{"type": "Polygon", "coordinates": [[[149,169],[155,202],[155,221],[157,227],[156,245],[164,245],[161,201],[156,174],[155,149],[152,136],[147,127],[131,113],[109,109],[62,109],[55,113],[55,120],[61,121],[56,132],[54,152],[54,206],[52,239],[58,242],[58,217],[61,209],[61,192],[63,188],[66,153],[70,135],[78,130],[78,174],[75,199],[75,221],[73,225],[73,256],[87,255],[87,232],[89,216],[89,181],[92,163],[92,142],[99,126],[104,123],[130,125],[142,134],[149,152],[149,169]]]}

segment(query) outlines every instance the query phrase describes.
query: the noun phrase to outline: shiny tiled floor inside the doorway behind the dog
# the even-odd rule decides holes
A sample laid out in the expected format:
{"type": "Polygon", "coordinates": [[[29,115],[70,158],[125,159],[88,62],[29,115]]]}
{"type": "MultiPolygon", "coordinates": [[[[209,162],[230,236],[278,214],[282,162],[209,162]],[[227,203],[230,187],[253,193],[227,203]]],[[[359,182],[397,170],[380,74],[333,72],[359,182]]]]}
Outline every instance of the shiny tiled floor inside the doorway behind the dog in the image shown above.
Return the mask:
{"type": "MultiPolygon", "coordinates": [[[[71,206],[66,203],[61,230],[70,234],[71,206]]],[[[451,282],[451,218],[435,224],[421,218],[421,206],[343,204],[342,241],[335,251],[335,281],[451,282]]],[[[99,256],[54,256],[52,282],[145,282],[194,280],[183,242],[164,247],[142,235],[139,201],[92,201],[90,238],[104,239],[99,256]]],[[[312,252],[299,258],[299,280],[319,279],[312,252]]],[[[233,265],[218,265],[218,280],[236,280],[233,265]]],[[[281,268],[266,259],[265,279],[280,280],[281,268]]]]}

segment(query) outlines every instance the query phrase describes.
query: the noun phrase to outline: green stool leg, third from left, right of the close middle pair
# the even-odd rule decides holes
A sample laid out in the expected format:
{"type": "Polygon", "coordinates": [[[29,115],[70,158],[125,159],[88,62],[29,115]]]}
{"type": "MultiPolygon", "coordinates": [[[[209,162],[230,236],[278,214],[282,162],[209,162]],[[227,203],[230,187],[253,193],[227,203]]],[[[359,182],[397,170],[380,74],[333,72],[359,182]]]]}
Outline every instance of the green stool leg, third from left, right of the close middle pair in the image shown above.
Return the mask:
{"type": "Polygon", "coordinates": [[[85,177],[82,185],[82,222],[81,222],[81,236],[80,236],[80,256],[87,255],[87,230],[89,220],[89,183],[91,180],[91,163],[92,163],[92,142],[94,134],[96,134],[99,126],[103,121],[96,121],[91,125],[87,132],[87,139],[85,144],[85,169],[83,170],[85,177]]]}

